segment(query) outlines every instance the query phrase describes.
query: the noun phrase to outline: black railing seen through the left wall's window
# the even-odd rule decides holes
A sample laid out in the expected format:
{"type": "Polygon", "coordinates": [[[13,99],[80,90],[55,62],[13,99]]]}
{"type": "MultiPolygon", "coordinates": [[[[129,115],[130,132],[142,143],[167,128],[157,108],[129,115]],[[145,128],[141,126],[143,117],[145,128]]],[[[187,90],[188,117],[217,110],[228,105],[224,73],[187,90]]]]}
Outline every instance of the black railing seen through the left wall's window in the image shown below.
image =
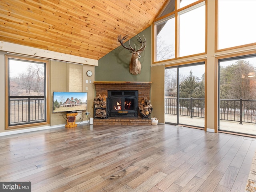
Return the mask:
{"type": "Polygon", "coordinates": [[[44,96],[10,96],[9,125],[45,122],[44,96]]]}

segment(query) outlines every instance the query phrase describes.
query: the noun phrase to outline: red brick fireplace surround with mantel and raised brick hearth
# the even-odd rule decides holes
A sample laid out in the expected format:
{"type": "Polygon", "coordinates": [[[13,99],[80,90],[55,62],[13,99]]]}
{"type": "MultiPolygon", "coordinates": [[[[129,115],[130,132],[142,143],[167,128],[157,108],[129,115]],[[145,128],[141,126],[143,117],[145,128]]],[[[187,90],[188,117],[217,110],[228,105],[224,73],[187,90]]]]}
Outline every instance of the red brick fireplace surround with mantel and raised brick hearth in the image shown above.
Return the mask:
{"type": "MultiPolygon", "coordinates": [[[[133,91],[138,90],[138,103],[143,98],[150,99],[151,82],[94,82],[96,96],[98,94],[105,94],[108,97],[108,91],[133,91]]],[[[151,125],[151,119],[142,118],[138,113],[138,117],[108,117],[108,118],[95,118],[95,125],[151,125]]]]}

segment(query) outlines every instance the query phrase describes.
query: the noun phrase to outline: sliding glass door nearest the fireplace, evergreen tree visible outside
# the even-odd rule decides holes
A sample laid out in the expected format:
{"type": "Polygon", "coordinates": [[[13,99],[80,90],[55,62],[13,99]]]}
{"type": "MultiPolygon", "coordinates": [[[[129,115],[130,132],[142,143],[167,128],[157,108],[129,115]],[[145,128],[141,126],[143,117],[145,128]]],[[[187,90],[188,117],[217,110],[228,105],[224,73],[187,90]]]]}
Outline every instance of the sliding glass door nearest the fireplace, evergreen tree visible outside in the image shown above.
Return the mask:
{"type": "Polygon", "coordinates": [[[204,75],[203,62],[166,68],[166,123],[204,128],[204,75]]]}

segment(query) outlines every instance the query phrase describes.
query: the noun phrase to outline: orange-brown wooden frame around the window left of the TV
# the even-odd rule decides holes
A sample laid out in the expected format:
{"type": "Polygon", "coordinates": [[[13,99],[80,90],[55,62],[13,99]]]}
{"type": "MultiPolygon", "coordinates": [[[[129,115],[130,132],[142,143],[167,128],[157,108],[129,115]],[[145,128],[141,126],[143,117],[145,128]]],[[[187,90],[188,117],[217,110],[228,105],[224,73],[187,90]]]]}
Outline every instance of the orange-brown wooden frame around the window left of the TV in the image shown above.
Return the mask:
{"type": "Polygon", "coordinates": [[[34,127],[42,126],[49,124],[49,61],[39,58],[25,57],[25,56],[16,56],[16,55],[5,55],[5,129],[17,129],[24,127],[34,127]],[[19,125],[9,125],[9,59],[18,59],[31,62],[41,62],[45,64],[45,119],[44,122],[35,122],[35,123],[24,123],[19,125]]]}

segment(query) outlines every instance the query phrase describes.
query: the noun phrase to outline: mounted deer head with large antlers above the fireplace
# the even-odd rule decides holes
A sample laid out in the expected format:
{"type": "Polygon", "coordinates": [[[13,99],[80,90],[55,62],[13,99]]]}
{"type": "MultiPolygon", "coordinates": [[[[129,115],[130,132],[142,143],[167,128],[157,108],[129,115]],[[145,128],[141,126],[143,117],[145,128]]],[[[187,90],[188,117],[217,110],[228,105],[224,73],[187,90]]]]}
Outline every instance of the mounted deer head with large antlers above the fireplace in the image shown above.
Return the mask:
{"type": "Polygon", "coordinates": [[[132,48],[132,46],[130,45],[130,39],[129,39],[129,46],[130,46],[130,48],[126,47],[124,45],[123,41],[126,40],[127,37],[128,37],[128,35],[124,36],[123,38],[122,38],[121,35],[119,35],[117,39],[118,39],[118,41],[121,43],[121,45],[124,48],[130,50],[130,53],[132,53],[132,58],[131,58],[131,62],[130,62],[130,65],[129,65],[130,74],[138,75],[138,74],[140,74],[140,70],[141,70],[141,64],[140,64],[140,61],[138,59],[141,57],[140,53],[142,51],[144,51],[145,48],[146,48],[146,39],[143,36],[144,41],[142,42],[142,39],[140,38],[140,36],[139,36],[139,38],[136,37],[138,42],[140,42],[141,46],[140,46],[140,48],[138,50],[135,51],[136,45],[134,45],[134,48],[132,48]]]}

